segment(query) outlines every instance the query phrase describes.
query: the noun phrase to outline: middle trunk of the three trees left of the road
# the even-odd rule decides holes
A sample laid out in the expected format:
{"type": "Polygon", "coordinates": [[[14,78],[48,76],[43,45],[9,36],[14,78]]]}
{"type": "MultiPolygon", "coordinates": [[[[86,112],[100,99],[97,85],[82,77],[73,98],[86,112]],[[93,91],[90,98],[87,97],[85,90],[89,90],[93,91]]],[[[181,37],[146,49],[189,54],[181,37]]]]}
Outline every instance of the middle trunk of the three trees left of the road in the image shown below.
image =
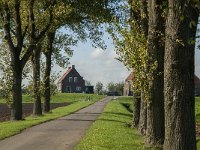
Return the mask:
{"type": "Polygon", "coordinates": [[[33,67],[33,115],[42,115],[41,94],[40,94],[40,53],[41,46],[38,45],[33,50],[32,67],[33,67]]]}

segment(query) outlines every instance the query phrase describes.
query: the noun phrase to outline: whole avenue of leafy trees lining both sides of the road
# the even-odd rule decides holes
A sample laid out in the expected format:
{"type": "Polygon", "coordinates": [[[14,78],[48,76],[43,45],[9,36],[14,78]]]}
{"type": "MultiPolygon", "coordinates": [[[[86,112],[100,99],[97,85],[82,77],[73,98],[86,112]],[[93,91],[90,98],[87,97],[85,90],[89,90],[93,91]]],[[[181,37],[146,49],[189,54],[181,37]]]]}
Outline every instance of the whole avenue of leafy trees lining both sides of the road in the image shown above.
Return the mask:
{"type": "Polygon", "coordinates": [[[118,2],[0,1],[1,59],[5,60],[2,66],[10,64],[10,68],[1,68],[8,75],[4,81],[10,83],[11,119],[22,119],[21,86],[28,61],[33,73],[33,114],[41,115],[41,55],[46,60],[42,95],[44,111],[48,112],[53,56],[56,62],[62,62],[59,50],[69,52],[69,45],[86,38],[104,48],[100,25],[113,21],[108,30],[115,41],[119,60],[133,68],[133,126],[146,136],[147,143],[164,144],[165,150],[196,149],[194,43],[199,1],[118,2]],[[115,8],[122,11],[115,11],[115,8]],[[114,11],[117,17],[113,17],[114,11]],[[73,38],[58,36],[61,27],[72,32],[73,38]],[[67,40],[63,42],[64,39],[67,40]],[[9,57],[4,57],[6,54],[9,57]]]}

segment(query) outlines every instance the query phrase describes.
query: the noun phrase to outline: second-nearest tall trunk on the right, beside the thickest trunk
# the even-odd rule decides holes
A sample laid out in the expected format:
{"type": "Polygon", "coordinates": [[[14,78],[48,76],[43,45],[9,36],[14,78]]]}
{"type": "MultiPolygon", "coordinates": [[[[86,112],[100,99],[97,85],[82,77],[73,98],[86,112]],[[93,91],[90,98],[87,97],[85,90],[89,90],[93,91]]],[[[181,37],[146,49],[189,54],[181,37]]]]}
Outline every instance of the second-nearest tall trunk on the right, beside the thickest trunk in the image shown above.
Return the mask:
{"type": "Polygon", "coordinates": [[[161,16],[163,10],[158,7],[163,1],[149,0],[148,52],[149,66],[157,62],[157,68],[151,73],[149,105],[147,107],[147,143],[151,145],[164,142],[164,29],[161,16]]]}

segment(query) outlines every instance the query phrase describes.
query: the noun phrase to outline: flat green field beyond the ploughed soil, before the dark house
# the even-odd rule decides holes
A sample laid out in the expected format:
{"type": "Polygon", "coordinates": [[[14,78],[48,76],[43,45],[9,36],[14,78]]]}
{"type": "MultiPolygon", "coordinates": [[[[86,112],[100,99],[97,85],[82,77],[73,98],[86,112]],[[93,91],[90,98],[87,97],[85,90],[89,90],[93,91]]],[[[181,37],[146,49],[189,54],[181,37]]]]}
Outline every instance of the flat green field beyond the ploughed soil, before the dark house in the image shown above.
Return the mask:
{"type": "MultiPolygon", "coordinates": [[[[53,95],[51,103],[64,103],[64,102],[75,102],[87,99],[102,99],[103,95],[96,94],[83,94],[83,93],[58,93],[53,95]]],[[[32,98],[29,95],[23,95],[23,103],[32,103],[32,98]]],[[[6,103],[5,99],[0,99],[0,103],[6,103]]]]}

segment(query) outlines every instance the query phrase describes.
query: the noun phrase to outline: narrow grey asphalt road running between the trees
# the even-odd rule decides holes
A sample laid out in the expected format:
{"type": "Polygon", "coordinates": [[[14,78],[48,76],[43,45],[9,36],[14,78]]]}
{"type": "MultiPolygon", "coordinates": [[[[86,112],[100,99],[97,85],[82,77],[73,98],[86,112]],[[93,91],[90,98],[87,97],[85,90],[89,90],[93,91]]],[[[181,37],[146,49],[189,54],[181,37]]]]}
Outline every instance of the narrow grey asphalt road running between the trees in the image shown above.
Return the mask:
{"type": "Polygon", "coordinates": [[[28,128],[0,141],[0,150],[72,150],[111,99],[106,97],[66,117],[28,128]]]}

